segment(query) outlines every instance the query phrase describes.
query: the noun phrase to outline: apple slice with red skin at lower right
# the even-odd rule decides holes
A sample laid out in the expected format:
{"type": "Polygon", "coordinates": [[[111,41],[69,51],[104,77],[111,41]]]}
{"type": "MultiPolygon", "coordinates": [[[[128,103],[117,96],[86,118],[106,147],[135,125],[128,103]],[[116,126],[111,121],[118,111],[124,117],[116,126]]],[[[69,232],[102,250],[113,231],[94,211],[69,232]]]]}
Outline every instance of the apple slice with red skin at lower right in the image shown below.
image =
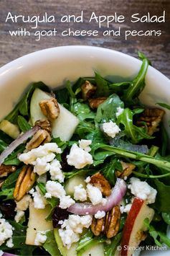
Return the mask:
{"type": "Polygon", "coordinates": [[[133,250],[131,249],[140,244],[143,231],[147,230],[146,226],[143,225],[144,219],[148,218],[149,222],[151,222],[153,217],[154,210],[146,206],[144,200],[139,198],[133,200],[123,229],[121,256],[130,256],[133,254],[133,250]]]}

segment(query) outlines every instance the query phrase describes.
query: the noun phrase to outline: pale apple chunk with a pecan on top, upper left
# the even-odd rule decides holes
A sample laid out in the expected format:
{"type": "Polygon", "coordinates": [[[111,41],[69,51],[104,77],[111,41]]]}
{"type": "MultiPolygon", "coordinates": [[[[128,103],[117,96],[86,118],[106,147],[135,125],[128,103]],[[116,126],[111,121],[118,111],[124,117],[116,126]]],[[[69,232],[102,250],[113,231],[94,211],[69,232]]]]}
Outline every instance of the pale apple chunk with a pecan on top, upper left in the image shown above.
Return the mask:
{"type": "MultiPolygon", "coordinates": [[[[42,114],[42,111],[39,107],[39,102],[41,100],[49,99],[50,97],[51,96],[49,94],[43,92],[41,89],[37,88],[34,90],[30,103],[30,114],[33,125],[37,120],[47,119],[42,114]]],[[[52,135],[55,138],[60,137],[62,141],[69,141],[79,123],[79,120],[65,107],[62,107],[60,104],[58,105],[60,107],[60,115],[57,119],[52,121],[52,135]]]]}

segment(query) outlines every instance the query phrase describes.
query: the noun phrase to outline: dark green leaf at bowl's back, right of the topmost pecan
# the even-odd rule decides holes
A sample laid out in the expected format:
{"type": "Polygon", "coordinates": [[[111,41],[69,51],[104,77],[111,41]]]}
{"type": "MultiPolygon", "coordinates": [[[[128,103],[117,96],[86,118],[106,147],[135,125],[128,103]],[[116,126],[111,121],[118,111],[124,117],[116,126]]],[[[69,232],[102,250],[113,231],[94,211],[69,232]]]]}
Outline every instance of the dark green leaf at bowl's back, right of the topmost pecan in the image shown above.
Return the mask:
{"type": "Polygon", "coordinates": [[[100,74],[95,73],[95,83],[97,84],[97,90],[95,97],[108,97],[110,94],[109,82],[105,80],[100,74]]]}

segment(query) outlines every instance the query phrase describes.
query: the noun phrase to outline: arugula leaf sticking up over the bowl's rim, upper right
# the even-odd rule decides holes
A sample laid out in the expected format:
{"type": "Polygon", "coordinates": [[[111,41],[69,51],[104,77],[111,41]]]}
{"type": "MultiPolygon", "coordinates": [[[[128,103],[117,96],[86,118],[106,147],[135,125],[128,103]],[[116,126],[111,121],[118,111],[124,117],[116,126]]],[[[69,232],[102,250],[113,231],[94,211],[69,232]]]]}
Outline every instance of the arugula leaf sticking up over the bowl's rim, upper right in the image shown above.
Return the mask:
{"type": "Polygon", "coordinates": [[[143,62],[136,78],[131,81],[128,89],[124,90],[123,101],[126,102],[126,105],[132,105],[133,100],[141,94],[145,87],[145,76],[150,61],[148,61],[148,58],[146,58],[143,53],[138,52],[138,57],[141,58],[143,62]]]}

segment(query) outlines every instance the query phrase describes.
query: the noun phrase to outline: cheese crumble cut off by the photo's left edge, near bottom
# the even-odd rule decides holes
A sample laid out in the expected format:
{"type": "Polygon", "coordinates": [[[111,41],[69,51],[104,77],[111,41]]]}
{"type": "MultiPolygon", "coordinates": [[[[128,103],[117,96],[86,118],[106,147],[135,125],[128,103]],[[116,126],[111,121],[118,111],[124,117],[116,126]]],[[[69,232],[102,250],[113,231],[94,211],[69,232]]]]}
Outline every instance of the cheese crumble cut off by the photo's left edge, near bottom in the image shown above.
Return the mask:
{"type": "Polygon", "coordinates": [[[13,227],[6,219],[0,219],[0,246],[4,244],[7,239],[10,239],[13,234],[13,227]]]}

